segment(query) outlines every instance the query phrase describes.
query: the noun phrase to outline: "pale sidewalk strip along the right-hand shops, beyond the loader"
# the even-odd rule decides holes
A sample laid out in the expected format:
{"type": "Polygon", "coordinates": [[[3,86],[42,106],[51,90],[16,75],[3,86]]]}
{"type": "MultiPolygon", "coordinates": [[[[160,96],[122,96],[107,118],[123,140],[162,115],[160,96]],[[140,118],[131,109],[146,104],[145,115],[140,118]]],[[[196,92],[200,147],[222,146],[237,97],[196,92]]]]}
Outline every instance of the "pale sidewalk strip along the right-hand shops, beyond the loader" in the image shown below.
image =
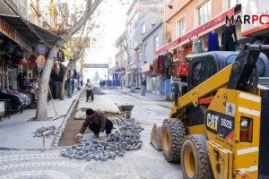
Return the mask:
{"type": "Polygon", "coordinates": [[[166,108],[171,108],[172,107],[172,102],[167,101],[165,97],[162,97],[161,95],[158,94],[153,94],[151,91],[146,91],[145,96],[141,95],[140,90],[135,90],[135,93],[131,92],[131,89],[126,88],[126,87],[116,87],[117,91],[125,93],[126,95],[132,96],[134,98],[139,98],[140,100],[143,101],[156,101],[158,103],[158,106],[161,107],[166,107],[166,108]]]}

